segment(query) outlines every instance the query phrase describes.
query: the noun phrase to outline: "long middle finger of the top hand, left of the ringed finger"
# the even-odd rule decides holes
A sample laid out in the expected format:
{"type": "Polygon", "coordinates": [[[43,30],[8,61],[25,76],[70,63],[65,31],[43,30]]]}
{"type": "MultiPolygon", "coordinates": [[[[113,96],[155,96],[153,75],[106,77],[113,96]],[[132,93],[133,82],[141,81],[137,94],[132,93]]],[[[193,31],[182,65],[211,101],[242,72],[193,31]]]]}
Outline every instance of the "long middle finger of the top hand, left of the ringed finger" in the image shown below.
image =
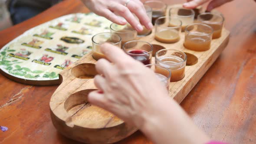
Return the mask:
{"type": "Polygon", "coordinates": [[[131,11],[127,7],[119,3],[112,3],[109,7],[110,7],[110,10],[124,17],[125,20],[127,20],[127,22],[130,23],[131,26],[135,28],[137,31],[141,32],[143,30],[143,27],[141,26],[139,21],[135,18],[135,16],[133,16],[131,11]]]}

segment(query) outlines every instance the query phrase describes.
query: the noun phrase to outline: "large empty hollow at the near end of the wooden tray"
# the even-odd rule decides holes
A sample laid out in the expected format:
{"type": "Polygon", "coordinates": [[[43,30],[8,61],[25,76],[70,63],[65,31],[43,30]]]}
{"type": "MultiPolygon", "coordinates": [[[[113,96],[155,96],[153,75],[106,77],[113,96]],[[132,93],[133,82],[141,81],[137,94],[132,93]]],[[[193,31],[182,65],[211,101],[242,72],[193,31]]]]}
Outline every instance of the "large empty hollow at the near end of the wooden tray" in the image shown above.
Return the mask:
{"type": "Polygon", "coordinates": [[[95,90],[86,89],[75,92],[66,99],[64,108],[71,115],[66,120],[67,125],[77,125],[83,128],[110,128],[123,123],[112,113],[88,102],[89,93],[95,90]]]}

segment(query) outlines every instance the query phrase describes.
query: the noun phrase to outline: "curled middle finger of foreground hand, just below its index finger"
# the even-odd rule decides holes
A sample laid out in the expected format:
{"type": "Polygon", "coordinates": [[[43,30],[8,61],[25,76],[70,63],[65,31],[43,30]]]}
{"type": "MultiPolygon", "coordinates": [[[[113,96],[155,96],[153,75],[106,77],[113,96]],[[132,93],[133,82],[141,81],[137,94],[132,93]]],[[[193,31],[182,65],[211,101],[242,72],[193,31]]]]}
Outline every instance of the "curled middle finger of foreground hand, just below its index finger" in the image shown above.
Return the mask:
{"type": "Polygon", "coordinates": [[[112,75],[111,72],[113,71],[113,65],[111,65],[111,63],[106,59],[99,59],[95,68],[99,74],[102,74],[107,78],[112,75]]]}

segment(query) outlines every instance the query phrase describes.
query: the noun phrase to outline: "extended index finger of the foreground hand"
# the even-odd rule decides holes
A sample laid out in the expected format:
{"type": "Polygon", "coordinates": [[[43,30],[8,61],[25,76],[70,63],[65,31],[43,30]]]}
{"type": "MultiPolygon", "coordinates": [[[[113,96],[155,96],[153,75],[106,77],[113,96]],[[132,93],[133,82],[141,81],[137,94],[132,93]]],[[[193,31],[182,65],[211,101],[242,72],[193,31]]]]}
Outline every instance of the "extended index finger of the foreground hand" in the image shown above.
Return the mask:
{"type": "Polygon", "coordinates": [[[128,56],[122,49],[109,43],[102,44],[101,51],[110,62],[114,62],[117,65],[123,65],[127,61],[135,61],[135,59],[128,56]]]}

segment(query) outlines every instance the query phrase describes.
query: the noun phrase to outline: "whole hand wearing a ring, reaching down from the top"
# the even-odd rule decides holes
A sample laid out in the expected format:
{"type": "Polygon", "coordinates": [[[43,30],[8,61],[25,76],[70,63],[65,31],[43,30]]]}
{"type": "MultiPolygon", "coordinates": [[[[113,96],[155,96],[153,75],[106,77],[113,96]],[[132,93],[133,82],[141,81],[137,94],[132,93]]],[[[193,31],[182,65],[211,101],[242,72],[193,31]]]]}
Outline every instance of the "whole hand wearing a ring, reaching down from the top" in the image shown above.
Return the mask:
{"type": "Polygon", "coordinates": [[[130,0],[126,7],[127,0],[82,0],[83,3],[94,13],[106,17],[113,23],[125,25],[131,24],[138,32],[143,30],[144,25],[147,29],[152,29],[153,25],[147,16],[143,3],[140,0],[130,0]],[[132,14],[134,13],[139,21],[132,14]],[[125,18],[125,20],[118,15],[125,18]],[[127,22],[126,22],[127,21],[127,22]]]}

